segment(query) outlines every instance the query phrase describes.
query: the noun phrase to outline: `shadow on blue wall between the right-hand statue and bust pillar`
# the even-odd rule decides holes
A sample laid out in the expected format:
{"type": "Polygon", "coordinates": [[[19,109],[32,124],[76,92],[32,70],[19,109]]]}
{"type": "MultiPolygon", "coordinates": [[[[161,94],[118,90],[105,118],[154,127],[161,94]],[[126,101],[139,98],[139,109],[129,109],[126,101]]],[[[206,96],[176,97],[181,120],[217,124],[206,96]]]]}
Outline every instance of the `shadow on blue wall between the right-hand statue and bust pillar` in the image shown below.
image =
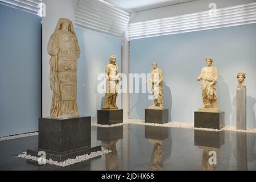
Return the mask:
{"type": "Polygon", "coordinates": [[[225,108],[225,110],[222,110],[225,111],[225,125],[232,125],[230,117],[233,113],[233,108],[230,99],[229,86],[221,75],[218,76],[217,97],[218,107],[220,107],[220,109],[225,108]]]}

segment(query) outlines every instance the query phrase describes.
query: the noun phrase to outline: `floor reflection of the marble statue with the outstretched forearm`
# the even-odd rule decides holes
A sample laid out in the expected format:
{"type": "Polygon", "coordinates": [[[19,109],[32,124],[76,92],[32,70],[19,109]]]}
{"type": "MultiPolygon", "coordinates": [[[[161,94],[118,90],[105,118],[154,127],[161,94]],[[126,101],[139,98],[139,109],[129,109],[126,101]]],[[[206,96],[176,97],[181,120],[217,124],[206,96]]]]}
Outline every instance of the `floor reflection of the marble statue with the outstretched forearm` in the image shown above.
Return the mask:
{"type": "Polygon", "coordinates": [[[163,151],[164,151],[164,140],[148,139],[148,141],[154,144],[150,169],[152,171],[163,171],[163,151]]]}

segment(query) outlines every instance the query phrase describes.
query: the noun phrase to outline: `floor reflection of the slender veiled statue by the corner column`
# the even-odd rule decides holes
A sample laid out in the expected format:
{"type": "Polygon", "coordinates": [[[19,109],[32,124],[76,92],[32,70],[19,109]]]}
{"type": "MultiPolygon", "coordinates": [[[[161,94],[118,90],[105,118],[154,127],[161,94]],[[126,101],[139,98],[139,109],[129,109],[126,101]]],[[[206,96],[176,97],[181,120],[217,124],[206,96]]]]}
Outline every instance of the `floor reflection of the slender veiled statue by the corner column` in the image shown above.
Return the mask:
{"type": "Polygon", "coordinates": [[[102,146],[106,150],[111,150],[112,152],[106,154],[106,170],[116,171],[118,170],[118,152],[117,152],[117,142],[118,140],[112,142],[103,142],[102,146]]]}

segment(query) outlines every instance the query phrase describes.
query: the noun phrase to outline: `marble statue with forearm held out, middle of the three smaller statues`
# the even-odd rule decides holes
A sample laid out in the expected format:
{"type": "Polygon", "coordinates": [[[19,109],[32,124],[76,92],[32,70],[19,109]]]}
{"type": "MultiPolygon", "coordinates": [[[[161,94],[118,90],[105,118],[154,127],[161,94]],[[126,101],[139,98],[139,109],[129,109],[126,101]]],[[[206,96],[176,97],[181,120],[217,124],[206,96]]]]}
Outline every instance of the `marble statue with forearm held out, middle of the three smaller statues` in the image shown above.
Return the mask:
{"type": "Polygon", "coordinates": [[[152,67],[153,70],[151,71],[150,81],[147,81],[146,84],[151,83],[154,105],[148,107],[148,109],[164,109],[163,72],[162,69],[158,68],[156,62],[152,63],[152,67]]]}

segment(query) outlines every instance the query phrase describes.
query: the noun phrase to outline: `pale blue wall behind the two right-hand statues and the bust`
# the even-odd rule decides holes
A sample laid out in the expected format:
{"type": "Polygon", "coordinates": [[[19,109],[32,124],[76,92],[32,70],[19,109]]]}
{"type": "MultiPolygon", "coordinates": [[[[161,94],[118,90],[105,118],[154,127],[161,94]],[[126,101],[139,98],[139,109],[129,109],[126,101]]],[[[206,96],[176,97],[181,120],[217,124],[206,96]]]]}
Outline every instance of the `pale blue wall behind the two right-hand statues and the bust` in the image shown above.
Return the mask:
{"type": "MultiPolygon", "coordinates": [[[[256,127],[256,24],[185,34],[131,40],[130,72],[150,73],[158,61],[164,74],[164,104],[170,120],[193,123],[200,106],[201,88],[196,78],[212,57],[218,68],[217,94],[226,125],[236,126],[236,86],[238,72],[246,72],[247,126],[256,127]]],[[[131,94],[131,118],[144,119],[144,109],[152,105],[147,94],[131,94]]]]}

